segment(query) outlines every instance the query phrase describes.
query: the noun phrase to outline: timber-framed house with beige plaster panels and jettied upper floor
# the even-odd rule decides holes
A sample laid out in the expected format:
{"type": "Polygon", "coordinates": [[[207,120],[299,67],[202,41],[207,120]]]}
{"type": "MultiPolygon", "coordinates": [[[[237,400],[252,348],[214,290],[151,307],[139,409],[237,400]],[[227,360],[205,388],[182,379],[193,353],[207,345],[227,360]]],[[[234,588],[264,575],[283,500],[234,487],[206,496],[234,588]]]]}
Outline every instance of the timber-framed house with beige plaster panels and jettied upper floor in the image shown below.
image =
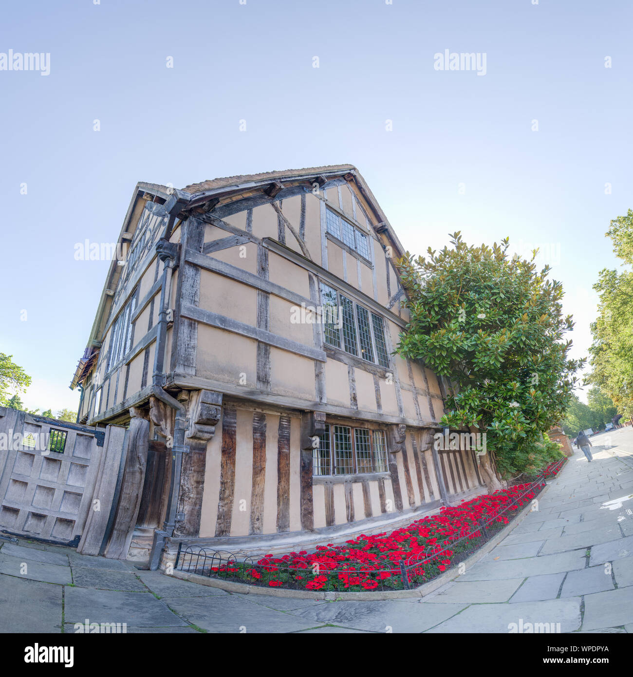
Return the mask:
{"type": "Polygon", "coordinates": [[[128,426],[110,556],[306,549],[483,492],[431,444],[443,380],[393,354],[403,248],[355,167],[138,183],[118,242],[71,385],[78,423],[128,426]]]}

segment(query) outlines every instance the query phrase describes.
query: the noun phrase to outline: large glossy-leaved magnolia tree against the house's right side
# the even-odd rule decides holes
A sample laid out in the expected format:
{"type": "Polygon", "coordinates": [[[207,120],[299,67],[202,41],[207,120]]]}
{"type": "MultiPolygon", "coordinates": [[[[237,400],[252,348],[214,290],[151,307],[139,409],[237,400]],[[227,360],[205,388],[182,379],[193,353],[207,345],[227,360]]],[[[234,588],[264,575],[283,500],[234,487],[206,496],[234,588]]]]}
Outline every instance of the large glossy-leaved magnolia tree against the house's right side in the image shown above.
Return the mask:
{"type": "Polygon", "coordinates": [[[538,250],[521,260],[508,255],[507,238],[468,246],[460,232],[451,244],[399,261],[410,321],[397,350],[448,378],[441,422],[486,434],[479,467],[494,491],[560,456],[546,431],[563,418],[584,360],[567,357],[573,322],[563,317],[561,283],[536,268],[538,250]]]}

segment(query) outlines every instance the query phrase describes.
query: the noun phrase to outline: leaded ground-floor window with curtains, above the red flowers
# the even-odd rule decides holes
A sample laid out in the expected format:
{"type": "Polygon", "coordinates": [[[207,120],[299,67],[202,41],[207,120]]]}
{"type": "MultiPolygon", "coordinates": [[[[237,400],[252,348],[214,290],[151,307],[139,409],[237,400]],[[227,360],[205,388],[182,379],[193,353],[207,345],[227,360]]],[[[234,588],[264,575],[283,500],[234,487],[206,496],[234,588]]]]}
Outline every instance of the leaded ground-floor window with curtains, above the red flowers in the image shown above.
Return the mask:
{"type": "Polygon", "coordinates": [[[312,453],[312,474],[354,475],[387,472],[385,431],[326,424],[312,453]]]}

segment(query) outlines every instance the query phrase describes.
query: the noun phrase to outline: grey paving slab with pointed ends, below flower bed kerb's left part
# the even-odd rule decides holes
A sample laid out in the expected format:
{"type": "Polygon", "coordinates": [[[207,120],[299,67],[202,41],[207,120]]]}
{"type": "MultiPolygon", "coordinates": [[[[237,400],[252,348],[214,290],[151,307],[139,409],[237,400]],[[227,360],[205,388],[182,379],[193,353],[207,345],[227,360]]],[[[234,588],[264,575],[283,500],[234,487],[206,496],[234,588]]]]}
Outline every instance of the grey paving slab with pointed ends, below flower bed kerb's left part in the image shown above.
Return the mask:
{"type": "MultiPolygon", "coordinates": [[[[320,626],[319,622],[250,603],[239,595],[215,597],[165,597],[178,615],[209,632],[294,632],[320,626]]],[[[332,603],[332,606],[336,603],[332,603]]],[[[350,603],[351,604],[351,603],[350,603]]],[[[413,606],[413,605],[403,605],[413,606]]],[[[319,607],[314,607],[318,609],[319,607]]],[[[295,612],[297,613],[297,612],[295,612]]]]}

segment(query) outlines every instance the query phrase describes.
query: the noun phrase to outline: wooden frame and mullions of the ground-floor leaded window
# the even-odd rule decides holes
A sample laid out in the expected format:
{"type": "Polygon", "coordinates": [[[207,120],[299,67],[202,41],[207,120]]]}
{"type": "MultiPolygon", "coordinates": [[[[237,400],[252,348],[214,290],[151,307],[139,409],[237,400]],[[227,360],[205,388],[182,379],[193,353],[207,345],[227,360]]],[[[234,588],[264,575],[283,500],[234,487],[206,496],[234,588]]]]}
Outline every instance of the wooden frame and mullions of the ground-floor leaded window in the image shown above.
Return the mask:
{"type": "MultiPolygon", "coordinates": [[[[326,432],[323,435],[318,435],[319,443],[312,451],[312,477],[348,477],[349,475],[377,475],[381,473],[389,473],[389,450],[387,449],[387,433],[382,428],[368,428],[368,427],[359,427],[354,425],[349,425],[347,423],[341,422],[326,422],[326,432]],[[341,463],[336,460],[336,433],[332,429],[334,428],[343,428],[349,431],[349,439],[351,443],[351,471],[337,473],[337,469],[341,467],[341,463]],[[362,458],[362,466],[366,467],[366,462],[369,460],[371,462],[371,469],[359,471],[359,448],[357,439],[359,431],[366,433],[366,440],[369,444],[369,449],[361,450],[362,453],[369,454],[368,457],[362,458]],[[380,436],[383,449],[376,450],[376,436],[380,436]],[[328,440],[327,446],[328,449],[324,450],[322,448],[322,443],[324,439],[328,440]],[[328,455],[324,456],[322,452],[326,452],[328,455]],[[378,464],[380,460],[380,464],[378,464]],[[329,473],[323,472],[322,470],[326,468],[329,473]],[[320,472],[315,474],[315,470],[318,469],[320,472]]],[[[347,464],[344,465],[347,468],[347,464]]]]}

